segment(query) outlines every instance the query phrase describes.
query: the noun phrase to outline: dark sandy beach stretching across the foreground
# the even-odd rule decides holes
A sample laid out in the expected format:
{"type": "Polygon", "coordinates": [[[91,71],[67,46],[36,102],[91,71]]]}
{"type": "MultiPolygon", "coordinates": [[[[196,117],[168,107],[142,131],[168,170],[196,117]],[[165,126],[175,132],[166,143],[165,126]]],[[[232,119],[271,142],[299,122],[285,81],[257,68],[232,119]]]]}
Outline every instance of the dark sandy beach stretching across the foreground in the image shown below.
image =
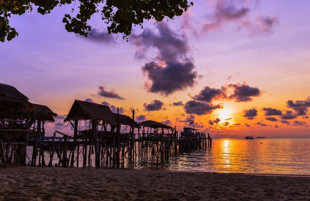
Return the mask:
{"type": "Polygon", "coordinates": [[[310,201],[310,177],[1,166],[0,200],[310,201]]]}

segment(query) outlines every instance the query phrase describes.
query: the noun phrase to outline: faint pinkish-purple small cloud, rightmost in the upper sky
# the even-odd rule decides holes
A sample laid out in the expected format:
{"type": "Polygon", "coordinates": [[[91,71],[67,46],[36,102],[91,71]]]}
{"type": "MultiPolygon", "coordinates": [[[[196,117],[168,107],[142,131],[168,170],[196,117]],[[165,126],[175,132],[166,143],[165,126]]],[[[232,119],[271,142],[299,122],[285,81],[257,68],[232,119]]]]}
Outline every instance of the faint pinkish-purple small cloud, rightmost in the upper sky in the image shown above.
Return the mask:
{"type": "Polygon", "coordinates": [[[276,24],[279,23],[277,16],[258,15],[254,21],[245,20],[241,24],[249,31],[250,35],[269,35],[276,24]]]}

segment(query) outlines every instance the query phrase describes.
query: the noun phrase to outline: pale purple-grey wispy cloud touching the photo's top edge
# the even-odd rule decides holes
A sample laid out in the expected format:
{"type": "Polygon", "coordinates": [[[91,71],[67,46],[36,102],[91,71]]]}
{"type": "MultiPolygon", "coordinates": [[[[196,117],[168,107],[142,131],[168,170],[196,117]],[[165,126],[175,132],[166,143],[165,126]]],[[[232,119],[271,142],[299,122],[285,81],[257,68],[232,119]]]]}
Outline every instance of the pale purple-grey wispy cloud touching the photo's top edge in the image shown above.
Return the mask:
{"type": "MultiPolygon", "coordinates": [[[[236,1],[234,1],[236,2],[236,1]]],[[[215,4],[214,13],[207,19],[207,23],[202,28],[202,33],[216,30],[229,21],[238,21],[246,16],[250,8],[233,3],[231,0],[218,0],[215,4]]]]}

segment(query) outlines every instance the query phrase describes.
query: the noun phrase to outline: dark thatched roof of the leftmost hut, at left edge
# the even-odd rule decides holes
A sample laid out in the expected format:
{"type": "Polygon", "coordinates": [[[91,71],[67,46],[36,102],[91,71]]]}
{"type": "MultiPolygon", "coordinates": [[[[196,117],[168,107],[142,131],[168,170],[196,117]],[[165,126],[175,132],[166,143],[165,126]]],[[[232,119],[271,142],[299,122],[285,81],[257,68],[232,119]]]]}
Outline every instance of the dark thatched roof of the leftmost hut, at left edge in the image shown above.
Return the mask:
{"type": "Polygon", "coordinates": [[[27,96],[19,92],[15,87],[0,83],[0,118],[10,119],[17,113],[30,112],[33,105],[28,102],[27,96]]]}

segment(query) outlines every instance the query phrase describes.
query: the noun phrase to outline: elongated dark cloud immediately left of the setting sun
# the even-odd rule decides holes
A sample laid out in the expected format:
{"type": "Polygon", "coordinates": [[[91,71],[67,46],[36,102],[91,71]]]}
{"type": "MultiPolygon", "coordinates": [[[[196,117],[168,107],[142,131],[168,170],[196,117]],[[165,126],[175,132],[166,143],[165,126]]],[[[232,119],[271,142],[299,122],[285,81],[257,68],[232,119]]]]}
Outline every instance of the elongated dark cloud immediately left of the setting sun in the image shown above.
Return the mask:
{"type": "Polygon", "coordinates": [[[222,105],[212,105],[209,103],[188,101],[184,105],[185,112],[188,114],[205,115],[211,114],[213,110],[223,108],[222,105]]]}

